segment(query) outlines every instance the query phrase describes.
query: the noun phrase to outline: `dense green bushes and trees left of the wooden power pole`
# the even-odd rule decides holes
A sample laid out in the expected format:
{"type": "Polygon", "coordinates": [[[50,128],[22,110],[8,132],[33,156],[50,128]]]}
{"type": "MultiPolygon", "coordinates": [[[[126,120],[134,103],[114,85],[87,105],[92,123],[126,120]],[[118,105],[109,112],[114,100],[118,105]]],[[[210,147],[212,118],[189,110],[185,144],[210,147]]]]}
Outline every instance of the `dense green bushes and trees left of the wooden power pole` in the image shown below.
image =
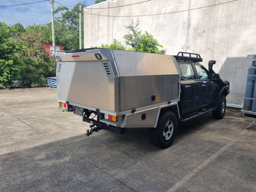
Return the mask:
{"type": "Polygon", "coordinates": [[[42,50],[42,26],[7,26],[0,22],[0,86],[47,85],[55,61],[42,50]]]}

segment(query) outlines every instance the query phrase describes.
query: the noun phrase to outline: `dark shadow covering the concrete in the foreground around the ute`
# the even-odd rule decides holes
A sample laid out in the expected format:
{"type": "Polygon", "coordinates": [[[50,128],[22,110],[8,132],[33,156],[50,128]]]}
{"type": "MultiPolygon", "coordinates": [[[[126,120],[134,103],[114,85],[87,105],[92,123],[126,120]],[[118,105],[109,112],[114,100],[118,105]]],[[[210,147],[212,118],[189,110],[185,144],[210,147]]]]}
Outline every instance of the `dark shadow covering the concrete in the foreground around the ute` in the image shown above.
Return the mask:
{"type": "MultiPolygon", "coordinates": [[[[244,125],[237,122],[237,113],[225,118],[214,120],[209,113],[180,124],[172,147],[165,150],[151,145],[147,129],[128,129],[125,134],[100,131],[89,138],[83,134],[3,154],[0,191],[166,191],[226,145],[225,138],[216,141],[205,134],[218,137],[224,133],[236,138],[241,132],[240,128],[233,128],[244,125]]],[[[254,157],[250,148],[230,147],[227,155],[216,157],[212,166],[202,170],[204,177],[195,175],[195,180],[181,186],[180,191],[195,186],[214,191],[216,185],[220,189],[249,189],[256,178],[254,157]],[[209,168],[211,173],[207,172],[209,168]],[[219,180],[220,177],[224,179],[219,180]],[[241,177],[248,177],[248,184],[243,184],[241,177]],[[197,178],[202,180],[200,186],[197,178]]]]}

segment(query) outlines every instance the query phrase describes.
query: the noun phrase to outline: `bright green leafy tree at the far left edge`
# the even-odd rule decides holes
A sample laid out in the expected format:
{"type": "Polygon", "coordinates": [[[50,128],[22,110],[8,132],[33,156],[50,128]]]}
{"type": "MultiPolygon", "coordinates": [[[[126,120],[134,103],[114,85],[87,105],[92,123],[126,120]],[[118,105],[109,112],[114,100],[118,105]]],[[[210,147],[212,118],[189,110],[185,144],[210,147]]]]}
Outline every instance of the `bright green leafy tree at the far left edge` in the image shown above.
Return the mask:
{"type": "Polygon", "coordinates": [[[20,45],[13,40],[11,28],[0,22],[0,84],[4,87],[12,86],[13,81],[17,79],[16,53],[20,50],[20,45]]]}

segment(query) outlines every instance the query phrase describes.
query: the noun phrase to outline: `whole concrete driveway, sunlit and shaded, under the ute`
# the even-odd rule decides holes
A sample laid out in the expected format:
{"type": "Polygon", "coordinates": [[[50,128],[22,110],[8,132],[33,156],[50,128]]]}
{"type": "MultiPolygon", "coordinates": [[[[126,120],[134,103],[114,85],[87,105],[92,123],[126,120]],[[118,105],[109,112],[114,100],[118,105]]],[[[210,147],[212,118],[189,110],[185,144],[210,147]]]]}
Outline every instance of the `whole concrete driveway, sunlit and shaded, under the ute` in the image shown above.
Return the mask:
{"type": "Polygon", "coordinates": [[[0,191],[256,191],[256,124],[239,110],[180,124],[172,147],[147,129],[85,135],[56,90],[0,90],[0,191]]]}

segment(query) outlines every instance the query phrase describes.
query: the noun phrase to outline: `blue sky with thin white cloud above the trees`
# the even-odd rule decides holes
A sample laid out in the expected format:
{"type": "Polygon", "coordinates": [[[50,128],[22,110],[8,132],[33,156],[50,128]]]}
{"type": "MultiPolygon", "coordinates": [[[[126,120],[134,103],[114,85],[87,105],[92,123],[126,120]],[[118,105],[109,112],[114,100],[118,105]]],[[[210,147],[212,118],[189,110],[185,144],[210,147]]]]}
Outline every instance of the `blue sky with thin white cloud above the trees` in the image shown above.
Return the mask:
{"type": "MultiPolygon", "coordinates": [[[[77,3],[90,6],[95,3],[95,0],[54,0],[54,10],[58,6],[66,6],[71,10],[77,3]]],[[[20,23],[24,27],[49,23],[51,22],[51,3],[44,0],[0,0],[0,22],[9,26],[20,23]],[[24,3],[31,4],[19,5],[24,3]]]]}

